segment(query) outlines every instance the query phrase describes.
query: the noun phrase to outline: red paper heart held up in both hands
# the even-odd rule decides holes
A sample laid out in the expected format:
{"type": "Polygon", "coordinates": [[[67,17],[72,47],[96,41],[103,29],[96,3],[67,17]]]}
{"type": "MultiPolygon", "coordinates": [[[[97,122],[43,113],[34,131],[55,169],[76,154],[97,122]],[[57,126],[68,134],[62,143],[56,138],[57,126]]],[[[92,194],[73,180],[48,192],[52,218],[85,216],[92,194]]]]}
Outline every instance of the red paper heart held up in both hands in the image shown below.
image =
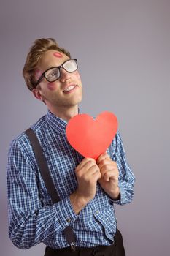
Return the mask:
{"type": "Polygon", "coordinates": [[[93,159],[107,150],[116,132],[117,118],[107,111],[95,119],[79,114],[71,118],[66,127],[66,137],[72,147],[82,156],[93,159]]]}

